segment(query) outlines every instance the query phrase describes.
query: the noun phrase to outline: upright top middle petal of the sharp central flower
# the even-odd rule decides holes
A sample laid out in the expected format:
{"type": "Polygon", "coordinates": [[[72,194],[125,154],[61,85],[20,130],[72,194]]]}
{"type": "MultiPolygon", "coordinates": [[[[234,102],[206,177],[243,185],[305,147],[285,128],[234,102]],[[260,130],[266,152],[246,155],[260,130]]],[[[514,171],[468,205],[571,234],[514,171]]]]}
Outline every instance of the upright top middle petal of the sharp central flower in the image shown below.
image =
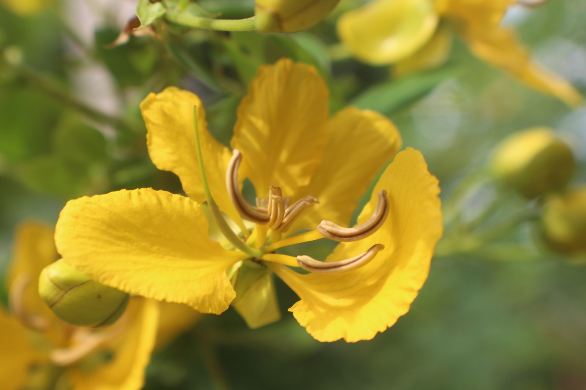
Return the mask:
{"type": "Polygon", "coordinates": [[[270,185],[297,201],[321,162],[328,119],[328,88],[315,70],[289,59],[265,65],[240,103],[232,148],[243,154],[241,177],[257,196],[270,185]]]}

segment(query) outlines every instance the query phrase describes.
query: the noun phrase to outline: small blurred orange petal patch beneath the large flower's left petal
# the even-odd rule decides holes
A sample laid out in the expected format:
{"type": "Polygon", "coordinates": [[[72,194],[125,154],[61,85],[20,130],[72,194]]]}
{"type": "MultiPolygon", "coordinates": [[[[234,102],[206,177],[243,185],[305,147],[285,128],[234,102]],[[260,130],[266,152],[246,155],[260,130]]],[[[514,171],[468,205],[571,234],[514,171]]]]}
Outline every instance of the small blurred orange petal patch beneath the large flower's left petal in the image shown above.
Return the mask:
{"type": "Polygon", "coordinates": [[[188,305],[159,302],[159,327],[156,332],[155,350],[171,343],[179,334],[191,329],[202,317],[188,305]]]}

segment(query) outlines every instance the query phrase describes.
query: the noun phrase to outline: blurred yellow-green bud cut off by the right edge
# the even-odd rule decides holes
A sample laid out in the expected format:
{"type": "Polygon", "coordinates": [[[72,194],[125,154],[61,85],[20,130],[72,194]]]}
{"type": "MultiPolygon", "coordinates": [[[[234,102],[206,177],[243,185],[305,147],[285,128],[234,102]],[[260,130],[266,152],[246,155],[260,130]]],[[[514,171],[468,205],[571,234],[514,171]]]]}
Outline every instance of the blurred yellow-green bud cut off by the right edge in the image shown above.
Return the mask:
{"type": "Polygon", "coordinates": [[[541,225],[546,242],[554,250],[586,253],[586,187],[549,196],[541,225]]]}

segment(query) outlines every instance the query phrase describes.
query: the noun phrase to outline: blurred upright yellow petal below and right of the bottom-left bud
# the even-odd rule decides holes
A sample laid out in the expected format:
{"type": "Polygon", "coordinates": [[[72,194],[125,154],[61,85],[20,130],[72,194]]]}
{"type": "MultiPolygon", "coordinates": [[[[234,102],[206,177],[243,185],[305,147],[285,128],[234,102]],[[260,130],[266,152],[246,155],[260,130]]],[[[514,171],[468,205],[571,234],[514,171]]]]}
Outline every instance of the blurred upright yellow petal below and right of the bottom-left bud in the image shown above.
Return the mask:
{"type": "Polygon", "coordinates": [[[84,370],[83,365],[71,367],[69,372],[73,387],[84,390],[141,389],[155,345],[158,309],[156,301],[141,296],[132,297],[127,311],[119,320],[127,321],[127,326],[120,336],[100,348],[102,353],[111,353],[112,359],[98,367],[91,367],[92,370],[84,370]]]}

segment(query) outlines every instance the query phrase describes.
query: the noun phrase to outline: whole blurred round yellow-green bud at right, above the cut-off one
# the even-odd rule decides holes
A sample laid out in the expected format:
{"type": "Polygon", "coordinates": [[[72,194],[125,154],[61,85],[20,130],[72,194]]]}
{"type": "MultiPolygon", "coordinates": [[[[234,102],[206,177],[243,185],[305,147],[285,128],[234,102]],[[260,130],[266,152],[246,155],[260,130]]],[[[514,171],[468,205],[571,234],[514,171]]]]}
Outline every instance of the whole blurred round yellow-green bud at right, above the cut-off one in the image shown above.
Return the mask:
{"type": "Polygon", "coordinates": [[[529,199],[563,188],[575,167],[570,147],[547,127],[508,137],[492,161],[495,177],[529,199]]]}

